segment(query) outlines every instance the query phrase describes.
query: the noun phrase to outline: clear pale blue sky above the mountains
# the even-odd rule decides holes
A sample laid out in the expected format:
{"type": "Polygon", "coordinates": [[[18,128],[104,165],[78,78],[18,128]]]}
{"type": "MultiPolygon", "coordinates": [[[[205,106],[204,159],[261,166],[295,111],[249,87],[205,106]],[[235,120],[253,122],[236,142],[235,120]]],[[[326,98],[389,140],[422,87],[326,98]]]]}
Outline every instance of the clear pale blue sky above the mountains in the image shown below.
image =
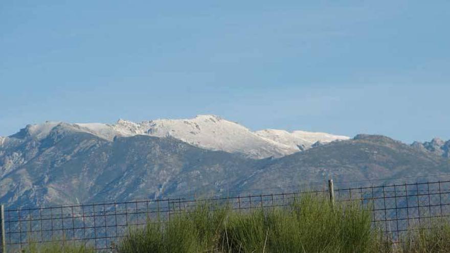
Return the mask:
{"type": "Polygon", "coordinates": [[[450,139],[449,1],[0,1],[0,135],[217,114],[450,139]],[[339,3],[338,3],[339,2],[339,3]]]}

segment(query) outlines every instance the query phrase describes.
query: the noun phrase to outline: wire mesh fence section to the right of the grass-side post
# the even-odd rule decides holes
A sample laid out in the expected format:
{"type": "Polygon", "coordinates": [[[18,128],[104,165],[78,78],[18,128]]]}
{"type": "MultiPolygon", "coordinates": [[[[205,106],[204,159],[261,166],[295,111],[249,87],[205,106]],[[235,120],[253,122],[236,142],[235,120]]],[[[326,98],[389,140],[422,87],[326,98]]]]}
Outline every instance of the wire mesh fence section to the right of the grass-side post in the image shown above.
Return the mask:
{"type": "Polygon", "coordinates": [[[431,228],[450,215],[450,181],[403,183],[336,190],[339,201],[357,200],[372,211],[372,223],[394,240],[411,228],[431,228]]]}

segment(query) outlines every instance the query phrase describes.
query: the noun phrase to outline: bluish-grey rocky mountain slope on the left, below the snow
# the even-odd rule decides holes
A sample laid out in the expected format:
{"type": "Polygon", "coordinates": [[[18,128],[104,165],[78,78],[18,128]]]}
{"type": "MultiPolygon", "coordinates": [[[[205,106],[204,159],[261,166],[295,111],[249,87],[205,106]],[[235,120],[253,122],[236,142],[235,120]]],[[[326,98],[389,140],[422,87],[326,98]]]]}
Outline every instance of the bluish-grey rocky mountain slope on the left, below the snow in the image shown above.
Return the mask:
{"type": "Polygon", "coordinates": [[[109,142],[61,125],[32,142],[15,151],[31,158],[0,180],[0,201],[9,206],[220,192],[235,188],[261,163],[173,138],[136,135],[109,142]]]}

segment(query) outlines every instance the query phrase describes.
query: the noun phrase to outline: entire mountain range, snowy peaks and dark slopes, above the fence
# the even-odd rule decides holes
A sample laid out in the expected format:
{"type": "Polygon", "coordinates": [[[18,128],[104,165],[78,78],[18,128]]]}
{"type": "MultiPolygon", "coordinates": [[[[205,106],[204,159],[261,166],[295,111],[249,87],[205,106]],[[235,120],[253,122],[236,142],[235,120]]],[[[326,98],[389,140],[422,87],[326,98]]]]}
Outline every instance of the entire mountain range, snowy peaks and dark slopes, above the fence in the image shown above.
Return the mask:
{"type": "Polygon", "coordinates": [[[287,191],[328,178],[443,175],[450,141],[248,128],[217,116],[116,124],[46,122],[0,137],[7,206],[287,191]]]}

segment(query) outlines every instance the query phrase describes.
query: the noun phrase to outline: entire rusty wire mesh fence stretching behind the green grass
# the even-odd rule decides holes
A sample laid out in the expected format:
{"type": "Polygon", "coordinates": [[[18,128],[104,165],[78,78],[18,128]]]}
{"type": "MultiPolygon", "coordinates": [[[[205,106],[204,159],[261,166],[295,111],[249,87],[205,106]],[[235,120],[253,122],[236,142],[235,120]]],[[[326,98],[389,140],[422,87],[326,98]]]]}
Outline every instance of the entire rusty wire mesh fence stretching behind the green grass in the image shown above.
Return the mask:
{"type": "Polygon", "coordinates": [[[409,228],[431,226],[436,217],[450,215],[450,180],[403,183],[320,191],[255,194],[209,199],[171,198],[116,203],[65,205],[4,211],[4,240],[8,252],[20,252],[30,242],[85,244],[99,252],[116,252],[131,227],[166,222],[202,201],[228,204],[236,212],[286,206],[304,194],[329,196],[335,201],[359,201],[372,211],[374,226],[396,240],[409,228]]]}

